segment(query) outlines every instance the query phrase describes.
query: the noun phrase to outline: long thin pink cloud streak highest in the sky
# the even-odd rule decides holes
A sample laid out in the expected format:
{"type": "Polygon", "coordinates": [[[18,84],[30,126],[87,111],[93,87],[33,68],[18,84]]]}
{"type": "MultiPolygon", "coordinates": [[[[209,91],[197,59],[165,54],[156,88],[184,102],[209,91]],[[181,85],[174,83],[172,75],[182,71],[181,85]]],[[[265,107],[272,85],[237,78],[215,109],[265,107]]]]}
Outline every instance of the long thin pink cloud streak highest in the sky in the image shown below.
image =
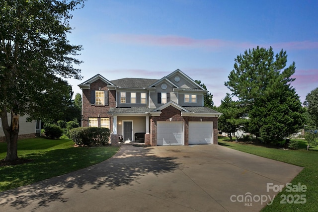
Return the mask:
{"type": "Polygon", "coordinates": [[[110,34],[106,36],[116,42],[150,45],[150,46],[179,46],[191,48],[205,48],[205,49],[221,49],[221,48],[243,48],[250,49],[256,46],[261,47],[274,47],[289,50],[306,50],[318,49],[318,42],[312,41],[293,41],[282,43],[250,43],[250,42],[237,42],[222,39],[194,39],[190,37],[176,36],[176,35],[136,35],[136,34],[110,34]]]}

